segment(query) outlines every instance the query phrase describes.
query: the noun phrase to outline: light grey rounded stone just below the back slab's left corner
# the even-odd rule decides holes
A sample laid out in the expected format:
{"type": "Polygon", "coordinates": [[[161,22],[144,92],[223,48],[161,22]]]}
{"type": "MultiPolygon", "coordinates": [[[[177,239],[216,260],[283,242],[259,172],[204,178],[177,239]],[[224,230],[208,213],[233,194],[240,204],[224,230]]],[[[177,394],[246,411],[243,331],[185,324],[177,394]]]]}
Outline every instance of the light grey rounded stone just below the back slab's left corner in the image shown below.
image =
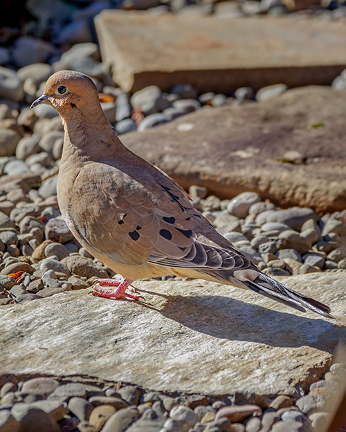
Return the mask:
{"type": "Polygon", "coordinates": [[[131,97],[131,104],[135,109],[143,111],[144,115],[158,113],[170,106],[158,86],[148,86],[136,91],[131,97]]]}

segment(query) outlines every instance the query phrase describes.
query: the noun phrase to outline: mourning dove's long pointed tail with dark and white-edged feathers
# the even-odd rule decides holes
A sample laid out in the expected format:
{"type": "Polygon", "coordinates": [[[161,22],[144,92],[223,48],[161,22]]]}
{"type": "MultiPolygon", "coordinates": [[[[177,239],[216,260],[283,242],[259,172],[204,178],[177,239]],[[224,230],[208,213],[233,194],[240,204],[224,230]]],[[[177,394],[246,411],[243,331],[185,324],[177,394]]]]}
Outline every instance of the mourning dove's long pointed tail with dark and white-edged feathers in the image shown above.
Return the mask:
{"type": "Polygon", "coordinates": [[[287,288],[282,285],[282,283],[275,281],[275,279],[255,269],[255,267],[251,270],[245,270],[244,273],[242,270],[238,272],[235,271],[232,276],[229,274],[226,275],[226,272],[216,271],[208,273],[210,276],[217,276],[218,279],[223,279],[228,283],[232,283],[232,285],[248,288],[258,292],[258,294],[269,297],[269,299],[280,301],[280,303],[284,303],[284,305],[291,306],[291,308],[300,310],[301,312],[306,312],[305,308],[307,308],[323,315],[323,317],[334,318],[330,314],[329,306],[315,299],[311,299],[311,297],[306,297],[299,292],[293,291],[291,288],[287,288]],[[240,278],[237,273],[239,273],[240,278]],[[246,275],[250,277],[246,277],[246,275]]]}

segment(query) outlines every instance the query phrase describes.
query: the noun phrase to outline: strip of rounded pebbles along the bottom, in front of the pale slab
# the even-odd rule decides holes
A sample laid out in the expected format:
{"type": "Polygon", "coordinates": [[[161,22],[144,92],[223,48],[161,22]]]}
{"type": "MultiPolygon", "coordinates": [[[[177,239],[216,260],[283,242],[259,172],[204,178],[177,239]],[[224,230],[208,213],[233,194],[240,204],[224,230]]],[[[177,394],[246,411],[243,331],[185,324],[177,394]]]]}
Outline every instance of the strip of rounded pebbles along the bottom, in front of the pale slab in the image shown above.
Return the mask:
{"type": "Polygon", "coordinates": [[[345,378],[345,368],[333,364],[325,376],[327,380],[311,384],[296,400],[271,396],[257,406],[235,404],[227,396],[169,395],[127,384],[95,386],[50,377],[19,382],[14,375],[3,374],[0,427],[19,431],[24,424],[39,424],[40,431],[71,432],[320,431],[329,421],[326,404],[345,378]],[[314,393],[318,387],[326,389],[323,395],[314,393]]]}

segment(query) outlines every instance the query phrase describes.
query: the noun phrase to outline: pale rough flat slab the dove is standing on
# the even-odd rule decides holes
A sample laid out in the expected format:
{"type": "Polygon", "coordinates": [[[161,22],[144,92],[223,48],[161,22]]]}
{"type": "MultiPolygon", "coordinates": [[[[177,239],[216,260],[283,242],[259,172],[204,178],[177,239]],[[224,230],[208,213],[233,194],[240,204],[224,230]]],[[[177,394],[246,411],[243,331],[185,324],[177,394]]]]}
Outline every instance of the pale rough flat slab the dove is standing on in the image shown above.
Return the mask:
{"type": "MultiPolygon", "coordinates": [[[[346,272],[280,279],[345,316],[346,272]]],[[[1,306],[0,371],[121,380],[170,393],[255,394],[258,402],[318,379],[345,339],[334,321],[250,291],[201,280],[134,285],[145,304],[80,290],[1,306]]]]}

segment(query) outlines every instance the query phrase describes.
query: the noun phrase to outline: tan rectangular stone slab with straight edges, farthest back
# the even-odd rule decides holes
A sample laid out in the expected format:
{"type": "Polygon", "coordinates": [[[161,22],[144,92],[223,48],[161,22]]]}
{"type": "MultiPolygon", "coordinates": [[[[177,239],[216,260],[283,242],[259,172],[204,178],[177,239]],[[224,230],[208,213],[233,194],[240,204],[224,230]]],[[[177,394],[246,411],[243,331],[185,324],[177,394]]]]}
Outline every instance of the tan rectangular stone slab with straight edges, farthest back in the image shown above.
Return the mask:
{"type": "Polygon", "coordinates": [[[186,17],[103,10],[102,61],[124,91],[189,83],[201,93],[330,84],[346,67],[340,21],[290,17],[186,17]]]}

